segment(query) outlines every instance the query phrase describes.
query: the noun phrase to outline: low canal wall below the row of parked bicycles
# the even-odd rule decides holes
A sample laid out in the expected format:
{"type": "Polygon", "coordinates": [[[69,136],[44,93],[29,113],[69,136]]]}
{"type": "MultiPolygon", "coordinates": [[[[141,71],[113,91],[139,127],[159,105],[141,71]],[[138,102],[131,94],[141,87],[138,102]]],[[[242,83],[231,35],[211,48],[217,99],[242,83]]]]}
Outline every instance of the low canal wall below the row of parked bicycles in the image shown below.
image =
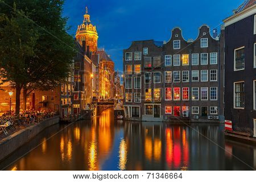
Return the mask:
{"type": "Polygon", "coordinates": [[[21,147],[23,144],[30,141],[41,131],[49,126],[59,123],[59,121],[59,116],[45,119],[43,122],[35,123],[34,125],[27,127],[26,129],[17,131],[16,133],[2,139],[0,141],[0,161],[6,158],[6,156],[10,155],[19,147],[21,147]]]}

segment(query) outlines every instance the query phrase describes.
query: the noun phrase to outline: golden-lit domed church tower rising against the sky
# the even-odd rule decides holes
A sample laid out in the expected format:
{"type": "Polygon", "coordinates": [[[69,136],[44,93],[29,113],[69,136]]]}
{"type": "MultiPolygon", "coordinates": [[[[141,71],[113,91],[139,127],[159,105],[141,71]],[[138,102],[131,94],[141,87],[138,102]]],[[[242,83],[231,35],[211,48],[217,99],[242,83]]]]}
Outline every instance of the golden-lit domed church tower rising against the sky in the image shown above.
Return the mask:
{"type": "Polygon", "coordinates": [[[98,47],[98,33],[96,26],[90,22],[90,15],[88,14],[88,8],[86,7],[84,22],[77,27],[76,40],[82,46],[82,42],[85,41],[86,46],[89,46],[90,52],[96,53],[98,47]]]}

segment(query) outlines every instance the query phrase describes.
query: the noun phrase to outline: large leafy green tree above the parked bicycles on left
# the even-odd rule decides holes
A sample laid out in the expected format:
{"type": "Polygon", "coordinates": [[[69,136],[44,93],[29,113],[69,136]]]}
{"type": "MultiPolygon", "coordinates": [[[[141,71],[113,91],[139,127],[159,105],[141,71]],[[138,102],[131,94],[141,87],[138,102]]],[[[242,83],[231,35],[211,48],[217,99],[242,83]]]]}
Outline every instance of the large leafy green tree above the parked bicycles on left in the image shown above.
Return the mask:
{"type": "Polygon", "coordinates": [[[55,88],[68,77],[76,52],[61,17],[63,1],[24,0],[11,9],[13,2],[0,1],[0,76],[15,86],[18,114],[20,90],[55,88]]]}

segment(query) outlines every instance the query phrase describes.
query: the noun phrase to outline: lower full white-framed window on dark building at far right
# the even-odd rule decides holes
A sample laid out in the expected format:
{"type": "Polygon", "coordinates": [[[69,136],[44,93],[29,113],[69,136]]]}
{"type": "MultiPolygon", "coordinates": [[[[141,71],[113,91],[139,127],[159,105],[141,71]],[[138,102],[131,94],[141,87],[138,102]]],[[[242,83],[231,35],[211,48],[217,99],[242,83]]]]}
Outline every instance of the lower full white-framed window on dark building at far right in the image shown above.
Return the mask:
{"type": "Polygon", "coordinates": [[[234,102],[235,108],[245,107],[245,82],[234,84],[234,102]]]}

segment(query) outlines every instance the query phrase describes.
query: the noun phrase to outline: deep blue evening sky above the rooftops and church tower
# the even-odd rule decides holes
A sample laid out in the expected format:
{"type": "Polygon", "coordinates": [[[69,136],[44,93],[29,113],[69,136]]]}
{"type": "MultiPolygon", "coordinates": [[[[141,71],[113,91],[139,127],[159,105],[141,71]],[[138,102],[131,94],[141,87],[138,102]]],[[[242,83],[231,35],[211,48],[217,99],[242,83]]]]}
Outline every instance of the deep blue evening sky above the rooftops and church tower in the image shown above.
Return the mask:
{"type": "Polygon", "coordinates": [[[168,41],[171,30],[181,27],[185,39],[195,39],[198,28],[208,24],[220,32],[222,20],[232,15],[243,0],[65,0],[64,16],[75,35],[82,23],[85,6],[96,25],[98,47],[104,47],[122,71],[122,51],[133,40],[168,41]]]}

